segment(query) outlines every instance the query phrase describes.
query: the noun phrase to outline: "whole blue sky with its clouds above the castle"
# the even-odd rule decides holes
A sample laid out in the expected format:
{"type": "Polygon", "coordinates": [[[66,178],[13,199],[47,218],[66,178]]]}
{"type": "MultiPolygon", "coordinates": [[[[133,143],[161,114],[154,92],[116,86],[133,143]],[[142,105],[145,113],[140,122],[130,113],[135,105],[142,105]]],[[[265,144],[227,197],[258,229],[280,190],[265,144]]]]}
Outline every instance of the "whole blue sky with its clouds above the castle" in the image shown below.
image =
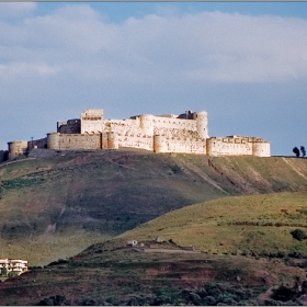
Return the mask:
{"type": "Polygon", "coordinates": [[[0,2],[0,150],[58,121],[206,111],[307,147],[307,2],[0,2]]]}

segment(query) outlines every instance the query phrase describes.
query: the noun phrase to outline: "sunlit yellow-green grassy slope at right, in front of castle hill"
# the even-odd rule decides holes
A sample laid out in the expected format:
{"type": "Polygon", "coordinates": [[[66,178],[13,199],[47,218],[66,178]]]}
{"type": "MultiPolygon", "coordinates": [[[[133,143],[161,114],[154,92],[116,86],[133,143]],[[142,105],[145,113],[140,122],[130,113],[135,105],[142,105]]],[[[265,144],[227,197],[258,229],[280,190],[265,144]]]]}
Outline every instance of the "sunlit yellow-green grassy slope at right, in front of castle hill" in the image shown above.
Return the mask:
{"type": "Polygon", "coordinates": [[[307,241],[291,234],[297,228],[307,234],[307,191],[228,196],[186,206],[126,231],[110,245],[162,236],[208,253],[307,257],[307,241]]]}

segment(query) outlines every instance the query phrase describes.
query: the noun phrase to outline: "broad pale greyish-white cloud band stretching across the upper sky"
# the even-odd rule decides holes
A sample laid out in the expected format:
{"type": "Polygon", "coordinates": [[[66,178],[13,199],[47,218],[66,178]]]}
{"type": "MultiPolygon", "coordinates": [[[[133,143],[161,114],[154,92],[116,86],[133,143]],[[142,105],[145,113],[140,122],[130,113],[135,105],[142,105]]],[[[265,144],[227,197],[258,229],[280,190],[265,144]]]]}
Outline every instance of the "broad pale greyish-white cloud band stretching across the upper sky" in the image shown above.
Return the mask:
{"type": "MultiPolygon", "coordinates": [[[[80,4],[2,29],[0,56],[8,62],[20,62],[26,55],[27,62],[38,66],[42,61],[77,66],[84,78],[93,64],[101,67],[101,73],[94,69],[93,76],[103,78],[107,67],[107,78],[113,71],[114,78],[138,76],[148,82],[163,78],[166,70],[191,81],[219,82],[307,75],[307,22],[298,19],[203,12],[151,14],[116,25],[80,4]]],[[[13,68],[8,65],[8,69],[13,68]]]]}

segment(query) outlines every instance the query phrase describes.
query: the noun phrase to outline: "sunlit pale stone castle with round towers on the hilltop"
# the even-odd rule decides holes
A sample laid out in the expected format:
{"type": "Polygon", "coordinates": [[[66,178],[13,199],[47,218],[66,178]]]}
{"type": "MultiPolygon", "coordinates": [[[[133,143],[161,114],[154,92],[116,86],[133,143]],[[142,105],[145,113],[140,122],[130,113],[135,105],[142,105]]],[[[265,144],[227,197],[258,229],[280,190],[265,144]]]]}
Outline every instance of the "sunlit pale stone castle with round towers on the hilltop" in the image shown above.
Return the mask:
{"type": "Polygon", "coordinates": [[[187,111],[180,115],[143,114],[122,121],[104,120],[102,110],[87,110],[80,120],[57,122],[57,132],[48,133],[45,138],[14,140],[8,145],[9,158],[35,148],[139,148],[155,152],[270,157],[270,143],[261,137],[208,137],[207,113],[204,111],[187,111]]]}

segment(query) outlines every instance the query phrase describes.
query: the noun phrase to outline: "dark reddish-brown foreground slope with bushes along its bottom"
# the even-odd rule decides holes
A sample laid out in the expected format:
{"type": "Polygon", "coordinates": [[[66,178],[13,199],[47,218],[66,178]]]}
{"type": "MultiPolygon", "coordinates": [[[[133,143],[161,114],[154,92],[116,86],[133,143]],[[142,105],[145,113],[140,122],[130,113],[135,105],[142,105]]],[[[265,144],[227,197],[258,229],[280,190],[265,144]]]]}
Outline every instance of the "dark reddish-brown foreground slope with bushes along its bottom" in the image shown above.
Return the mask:
{"type": "Polygon", "coordinates": [[[305,278],[305,268],[286,265],[280,259],[95,252],[0,283],[0,297],[1,305],[8,306],[263,306],[281,305],[272,300],[272,286],[283,283],[292,288],[305,278]]]}

